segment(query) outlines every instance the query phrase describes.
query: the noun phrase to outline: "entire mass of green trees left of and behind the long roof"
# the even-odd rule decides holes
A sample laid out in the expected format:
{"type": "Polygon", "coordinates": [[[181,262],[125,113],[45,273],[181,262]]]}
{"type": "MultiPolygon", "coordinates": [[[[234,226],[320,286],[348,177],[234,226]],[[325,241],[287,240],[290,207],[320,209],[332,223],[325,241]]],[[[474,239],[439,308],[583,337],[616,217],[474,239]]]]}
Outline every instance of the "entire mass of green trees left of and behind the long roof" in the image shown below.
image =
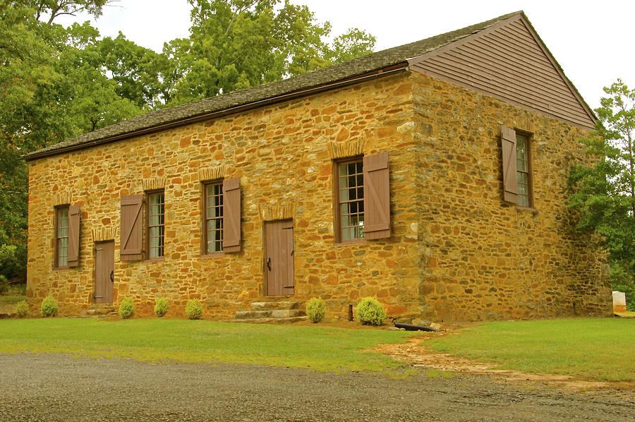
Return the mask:
{"type": "Polygon", "coordinates": [[[306,6],[189,0],[191,35],[162,52],[101,38],[89,23],[116,0],[0,0],[0,275],[26,268],[28,172],[21,155],[143,111],[274,82],[368,54],[375,37],[334,37],[306,6]]]}

